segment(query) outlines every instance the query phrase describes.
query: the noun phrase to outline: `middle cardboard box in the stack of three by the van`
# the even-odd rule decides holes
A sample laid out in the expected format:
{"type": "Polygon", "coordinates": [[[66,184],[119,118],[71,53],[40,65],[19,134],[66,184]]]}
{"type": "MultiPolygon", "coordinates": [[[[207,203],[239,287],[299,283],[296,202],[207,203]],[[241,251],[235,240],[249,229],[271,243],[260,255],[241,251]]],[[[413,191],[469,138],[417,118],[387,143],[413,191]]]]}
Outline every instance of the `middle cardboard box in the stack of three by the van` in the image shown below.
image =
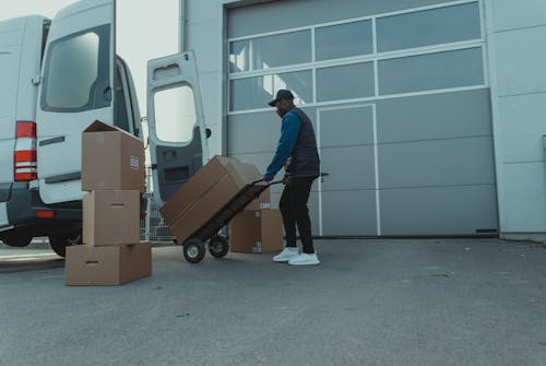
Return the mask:
{"type": "Polygon", "coordinates": [[[94,190],[83,198],[83,244],[116,246],[140,240],[140,192],[94,190]]]}

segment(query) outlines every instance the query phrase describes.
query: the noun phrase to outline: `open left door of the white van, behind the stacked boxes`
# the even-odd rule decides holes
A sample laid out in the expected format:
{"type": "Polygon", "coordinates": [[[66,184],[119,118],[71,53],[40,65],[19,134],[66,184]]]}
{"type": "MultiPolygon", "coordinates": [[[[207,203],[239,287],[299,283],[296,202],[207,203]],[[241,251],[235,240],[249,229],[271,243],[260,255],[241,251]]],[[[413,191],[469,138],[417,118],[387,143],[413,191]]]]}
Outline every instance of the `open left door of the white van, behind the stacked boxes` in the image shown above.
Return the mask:
{"type": "Polygon", "coordinates": [[[45,203],[82,198],[82,131],[96,119],[114,125],[115,12],[115,0],[83,0],[51,22],[36,111],[45,203]]]}

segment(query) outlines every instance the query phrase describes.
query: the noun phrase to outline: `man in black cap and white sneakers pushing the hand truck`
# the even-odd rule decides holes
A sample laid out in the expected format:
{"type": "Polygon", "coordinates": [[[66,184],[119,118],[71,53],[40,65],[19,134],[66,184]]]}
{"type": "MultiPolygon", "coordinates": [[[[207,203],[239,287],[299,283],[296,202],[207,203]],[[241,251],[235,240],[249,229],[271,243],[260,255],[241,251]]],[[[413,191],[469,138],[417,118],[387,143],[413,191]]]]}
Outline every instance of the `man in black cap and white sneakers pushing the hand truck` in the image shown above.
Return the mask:
{"type": "Polygon", "coordinates": [[[278,202],[286,232],[286,247],[273,257],[275,262],[288,262],[293,265],[319,264],[311,236],[311,220],[307,201],[311,185],[320,175],[320,160],[312,122],[307,115],[294,105],[290,91],[280,90],[275,99],[269,103],[276,107],[282,118],[281,139],[275,156],[268,167],[263,179],[273,177],[284,166],[284,190],[278,202]],[[298,252],[296,245],[296,225],[302,245],[298,252]]]}

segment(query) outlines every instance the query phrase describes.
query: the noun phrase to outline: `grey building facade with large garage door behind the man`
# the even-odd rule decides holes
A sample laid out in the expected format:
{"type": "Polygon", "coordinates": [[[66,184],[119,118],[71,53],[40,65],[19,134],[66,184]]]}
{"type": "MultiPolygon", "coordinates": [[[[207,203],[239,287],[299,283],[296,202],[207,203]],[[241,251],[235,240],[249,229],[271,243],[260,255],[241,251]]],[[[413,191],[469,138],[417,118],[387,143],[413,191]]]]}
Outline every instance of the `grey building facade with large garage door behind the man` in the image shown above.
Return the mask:
{"type": "Polygon", "coordinates": [[[180,8],[211,153],[265,169],[281,127],[266,102],[278,88],[313,120],[316,235],[544,239],[544,1],[180,8]]]}

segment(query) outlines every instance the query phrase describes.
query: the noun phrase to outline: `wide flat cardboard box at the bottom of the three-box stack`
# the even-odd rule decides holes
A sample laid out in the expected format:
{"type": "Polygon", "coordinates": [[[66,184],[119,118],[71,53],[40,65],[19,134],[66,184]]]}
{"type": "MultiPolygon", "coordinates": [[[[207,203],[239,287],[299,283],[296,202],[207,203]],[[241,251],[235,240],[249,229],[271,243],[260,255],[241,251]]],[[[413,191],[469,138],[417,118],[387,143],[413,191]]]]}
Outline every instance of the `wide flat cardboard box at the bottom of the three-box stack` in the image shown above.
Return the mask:
{"type": "Polygon", "coordinates": [[[67,247],[68,286],[121,285],[152,274],[152,244],[67,247]]]}

